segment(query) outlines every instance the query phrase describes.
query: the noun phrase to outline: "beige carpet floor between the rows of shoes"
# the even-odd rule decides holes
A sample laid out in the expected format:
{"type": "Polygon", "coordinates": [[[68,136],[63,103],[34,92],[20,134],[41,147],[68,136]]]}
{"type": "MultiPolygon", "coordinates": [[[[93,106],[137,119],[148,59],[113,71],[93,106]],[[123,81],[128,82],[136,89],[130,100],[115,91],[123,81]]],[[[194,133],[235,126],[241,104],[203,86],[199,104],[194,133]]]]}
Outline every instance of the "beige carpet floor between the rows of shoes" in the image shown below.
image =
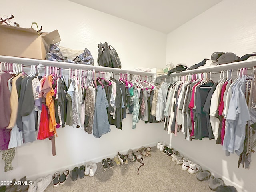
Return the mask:
{"type": "Polygon", "coordinates": [[[63,186],[53,188],[50,184],[45,192],[212,192],[207,181],[198,181],[196,174],[183,171],[180,165],[171,162],[156,147],[152,156],[144,158],[145,165],[129,162],[123,167],[114,164],[114,168],[104,171],[101,163],[94,177],[85,176],[72,181],[69,177],[63,186]]]}

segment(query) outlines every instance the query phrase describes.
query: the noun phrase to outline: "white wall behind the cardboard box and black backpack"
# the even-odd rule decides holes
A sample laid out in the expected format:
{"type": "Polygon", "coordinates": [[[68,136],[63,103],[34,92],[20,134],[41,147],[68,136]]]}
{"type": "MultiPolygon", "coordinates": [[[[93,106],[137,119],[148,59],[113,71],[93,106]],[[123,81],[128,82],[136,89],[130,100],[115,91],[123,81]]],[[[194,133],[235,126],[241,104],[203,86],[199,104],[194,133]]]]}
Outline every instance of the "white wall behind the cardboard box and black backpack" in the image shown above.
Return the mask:
{"type": "MultiPolygon", "coordinates": [[[[43,26],[44,32],[58,29],[61,46],[72,49],[88,48],[97,63],[97,45],[108,42],[116,48],[123,69],[137,67],[154,68],[165,66],[166,34],[92,10],[67,0],[13,0],[3,1],[1,16],[14,15],[14,21],[28,28],[32,22],[43,26]],[[154,50],[152,49],[154,48],[154,50]]],[[[66,126],[57,130],[56,156],[51,155],[48,139],[24,144],[16,150],[14,170],[4,172],[0,160],[0,180],[36,179],[53,174],[56,170],[74,168],[92,160],[113,157],[116,152],[127,152],[129,148],[142,145],[156,145],[157,141],[169,141],[162,126],[140,121],[132,130],[132,116],[123,122],[123,130],[111,126],[111,132],[101,138],[94,138],[80,128],[66,126]]],[[[2,155],[2,154],[1,154],[2,155]]]]}

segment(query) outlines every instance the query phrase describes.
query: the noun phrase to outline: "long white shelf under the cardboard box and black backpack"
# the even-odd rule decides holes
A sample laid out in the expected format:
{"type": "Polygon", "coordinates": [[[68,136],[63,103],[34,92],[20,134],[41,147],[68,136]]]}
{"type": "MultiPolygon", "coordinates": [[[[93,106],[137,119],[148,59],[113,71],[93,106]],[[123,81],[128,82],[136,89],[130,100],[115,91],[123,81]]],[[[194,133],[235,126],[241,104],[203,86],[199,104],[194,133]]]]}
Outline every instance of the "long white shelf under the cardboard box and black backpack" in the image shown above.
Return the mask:
{"type": "Polygon", "coordinates": [[[11,56],[2,56],[0,55],[0,62],[9,62],[9,63],[20,63],[24,65],[38,65],[42,66],[54,66],[60,68],[75,68],[82,70],[95,70],[95,71],[103,71],[103,72],[113,72],[113,73],[129,73],[135,75],[145,75],[152,76],[154,72],[143,72],[138,70],[125,70],[118,68],[110,68],[110,67],[101,67],[101,66],[92,66],[92,65],[84,65],[84,64],[74,64],[74,63],[66,63],[66,62],[58,62],[58,61],[48,61],[48,60],[38,60],[38,59],[30,59],[30,58],[22,58],[22,57],[11,57],[11,56]]]}

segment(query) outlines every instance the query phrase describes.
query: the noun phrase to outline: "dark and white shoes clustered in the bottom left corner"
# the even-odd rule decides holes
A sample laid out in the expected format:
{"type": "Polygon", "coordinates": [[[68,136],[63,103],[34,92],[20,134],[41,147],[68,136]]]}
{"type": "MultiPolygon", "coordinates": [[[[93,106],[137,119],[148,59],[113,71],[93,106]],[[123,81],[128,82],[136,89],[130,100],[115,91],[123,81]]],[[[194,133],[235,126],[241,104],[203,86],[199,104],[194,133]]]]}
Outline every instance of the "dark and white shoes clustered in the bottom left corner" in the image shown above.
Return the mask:
{"type": "Polygon", "coordinates": [[[34,182],[27,180],[25,176],[18,181],[13,179],[9,186],[1,186],[0,192],[44,192],[51,181],[51,175],[40,177],[34,182]]]}

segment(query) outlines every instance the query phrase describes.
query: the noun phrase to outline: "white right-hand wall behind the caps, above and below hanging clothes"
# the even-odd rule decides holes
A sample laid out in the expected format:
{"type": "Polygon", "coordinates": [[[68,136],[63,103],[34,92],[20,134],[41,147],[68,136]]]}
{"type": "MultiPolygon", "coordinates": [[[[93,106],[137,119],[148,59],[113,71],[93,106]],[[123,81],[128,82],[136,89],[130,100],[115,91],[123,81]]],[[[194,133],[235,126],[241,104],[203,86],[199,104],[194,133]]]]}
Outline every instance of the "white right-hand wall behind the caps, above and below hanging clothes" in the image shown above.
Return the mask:
{"type": "MultiPolygon", "coordinates": [[[[238,56],[255,52],[256,1],[223,0],[206,12],[180,26],[167,37],[166,63],[188,66],[210,58],[213,52],[234,52],[238,56]]],[[[183,136],[170,135],[170,144],[203,168],[222,176],[226,184],[253,192],[256,188],[256,155],[252,154],[250,170],[237,167],[238,156],[226,157],[214,140],[188,142],[183,136]]],[[[242,191],[242,189],[239,189],[242,191]]]]}

